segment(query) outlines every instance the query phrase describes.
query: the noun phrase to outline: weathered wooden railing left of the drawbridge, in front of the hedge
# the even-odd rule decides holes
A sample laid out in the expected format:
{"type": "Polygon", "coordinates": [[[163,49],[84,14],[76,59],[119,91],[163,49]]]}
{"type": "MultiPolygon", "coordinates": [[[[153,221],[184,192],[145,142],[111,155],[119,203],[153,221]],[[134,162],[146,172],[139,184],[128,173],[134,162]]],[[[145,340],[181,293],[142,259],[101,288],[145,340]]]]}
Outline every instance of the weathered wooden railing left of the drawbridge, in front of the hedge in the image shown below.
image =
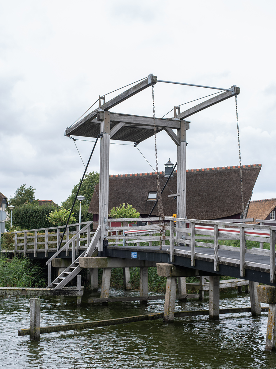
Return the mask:
{"type": "MultiPolygon", "coordinates": [[[[86,249],[89,245],[92,232],[92,222],[81,222],[69,224],[66,228],[62,244],[66,244],[79,230],[85,226],[87,229],[85,232],[81,232],[78,237],[74,238],[73,244],[76,244],[76,253],[79,255],[79,249],[86,249]]],[[[38,252],[45,252],[45,256],[48,256],[48,251],[56,252],[59,249],[61,235],[64,231],[64,225],[59,227],[49,228],[37,228],[33,230],[14,231],[14,254],[24,253],[24,257],[29,253],[33,253],[34,257],[37,257],[38,252]]],[[[71,245],[71,247],[73,246],[71,245]]],[[[68,256],[69,246],[66,248],[66,254],[68,256]]]]}

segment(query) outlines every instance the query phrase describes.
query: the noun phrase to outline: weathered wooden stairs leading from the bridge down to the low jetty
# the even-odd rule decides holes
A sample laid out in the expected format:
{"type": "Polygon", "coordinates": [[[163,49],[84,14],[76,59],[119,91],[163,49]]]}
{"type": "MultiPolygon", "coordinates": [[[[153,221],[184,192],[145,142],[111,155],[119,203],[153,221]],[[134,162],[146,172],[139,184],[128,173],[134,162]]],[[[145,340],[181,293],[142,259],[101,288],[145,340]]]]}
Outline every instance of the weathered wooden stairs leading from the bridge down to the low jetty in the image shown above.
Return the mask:
{"type": "Polygon", "coordinates": [[[54,290],[60,290],[65,287],[66,284],[70,282],[70,280],[77,276],[82,270],[82,268],[79,266],[79,258],[92,256],[92,253],[96,248],[99,238],[100,225],[98,226],[87,250],[79,255],[79,257],[75,261],[73,261],[71,265],[69,265],[68,268],[66,268],[64,272],[62,272],[55,280],[53,280],[53,282],[51,282],[49,286],[47,286],[47,288],[52,287],[54,290]]]}

